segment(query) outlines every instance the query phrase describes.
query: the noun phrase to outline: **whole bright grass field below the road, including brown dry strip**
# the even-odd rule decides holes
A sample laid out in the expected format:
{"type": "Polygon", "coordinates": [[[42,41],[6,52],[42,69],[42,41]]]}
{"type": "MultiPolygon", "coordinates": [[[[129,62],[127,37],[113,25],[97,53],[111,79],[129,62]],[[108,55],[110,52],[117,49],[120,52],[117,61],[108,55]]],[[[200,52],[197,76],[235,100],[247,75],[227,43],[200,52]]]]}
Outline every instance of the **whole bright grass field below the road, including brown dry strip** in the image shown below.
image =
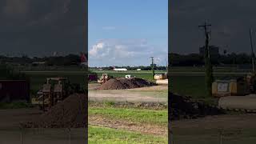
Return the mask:
{"type": "Polygon", "coordinates": [[[154,110],[139,106],[114,106],[109,102],[104,105],[89,104],[88,111],[89,143],[167,143],[166,133],[150,134],[150,131],[158,129],[167,131],[167,107],[154,110]],[[91,119],[101,120],[95,124],[91,119]]]}

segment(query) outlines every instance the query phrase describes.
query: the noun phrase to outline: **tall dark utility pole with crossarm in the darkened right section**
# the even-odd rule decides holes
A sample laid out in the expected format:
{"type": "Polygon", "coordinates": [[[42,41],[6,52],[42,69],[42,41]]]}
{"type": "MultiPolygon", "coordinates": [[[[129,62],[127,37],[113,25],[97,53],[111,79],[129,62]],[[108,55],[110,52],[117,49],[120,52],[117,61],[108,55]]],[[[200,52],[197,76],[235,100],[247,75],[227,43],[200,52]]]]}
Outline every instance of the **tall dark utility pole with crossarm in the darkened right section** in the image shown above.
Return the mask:
{"type": "Polygon", "coordinates": [[[206,22],[202,26],[198,26],[199,28],[203,28],[205,31],[205,65],[206,65],[206,90],[208,96],[211,96],[211,85],[212,82],[214,81],[214,76],[213,76],[213,68],[210,63],[210,50],[209,50],[209,36],[210,36],[210,31],[208,30],[208,27],[211,26],[210,24],[207,24],[206,22]]]}

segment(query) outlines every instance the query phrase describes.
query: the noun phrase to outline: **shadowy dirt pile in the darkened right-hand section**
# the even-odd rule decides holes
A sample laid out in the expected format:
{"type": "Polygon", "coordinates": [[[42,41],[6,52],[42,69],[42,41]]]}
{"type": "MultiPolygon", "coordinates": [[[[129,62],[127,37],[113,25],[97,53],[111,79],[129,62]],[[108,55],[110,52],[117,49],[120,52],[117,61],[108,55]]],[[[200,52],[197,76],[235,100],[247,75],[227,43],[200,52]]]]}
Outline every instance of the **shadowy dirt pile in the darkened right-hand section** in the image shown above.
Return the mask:
{"type": "Polygon", "coordinates": [[[194,102],[190,97],[178,94],[170,96],[170,120],[182,118],[198,118],[206,115],[224,114],[223,110],[216,106],[209,106],[203,102],[194,102]]]}

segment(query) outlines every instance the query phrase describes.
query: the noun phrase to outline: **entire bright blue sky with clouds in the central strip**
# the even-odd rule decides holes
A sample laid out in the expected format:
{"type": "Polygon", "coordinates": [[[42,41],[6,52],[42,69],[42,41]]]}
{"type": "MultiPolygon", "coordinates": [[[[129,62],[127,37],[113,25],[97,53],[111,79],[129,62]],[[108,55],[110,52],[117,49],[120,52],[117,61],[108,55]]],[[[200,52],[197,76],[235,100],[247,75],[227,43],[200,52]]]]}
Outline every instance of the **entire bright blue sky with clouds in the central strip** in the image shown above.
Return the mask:
{"type": "Polygon", "coordinates": [[[168,0],[89,0],[89,65],[165,66],[168,0]]]}

